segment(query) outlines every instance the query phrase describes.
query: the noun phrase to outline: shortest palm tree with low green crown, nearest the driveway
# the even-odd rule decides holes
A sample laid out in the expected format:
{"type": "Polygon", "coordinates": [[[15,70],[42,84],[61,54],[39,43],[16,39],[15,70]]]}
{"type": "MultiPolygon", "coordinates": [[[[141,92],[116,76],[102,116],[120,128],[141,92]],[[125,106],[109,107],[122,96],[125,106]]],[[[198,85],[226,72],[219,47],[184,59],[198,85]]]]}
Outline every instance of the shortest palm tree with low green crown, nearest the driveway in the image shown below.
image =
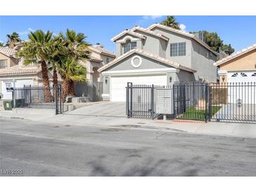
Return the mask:
{"type": "Polygon", "coordinates": [[[74,85],[70,86],[70,83],[74,82],[85,82],[86,81],[86,68],[82,67],[74,58],[67,57],[67,60],[62,60],[58,67],[58,72],[62,77],[62,100],[65,101],[67,95],[70,92],[74,92],[74,85]]]}

